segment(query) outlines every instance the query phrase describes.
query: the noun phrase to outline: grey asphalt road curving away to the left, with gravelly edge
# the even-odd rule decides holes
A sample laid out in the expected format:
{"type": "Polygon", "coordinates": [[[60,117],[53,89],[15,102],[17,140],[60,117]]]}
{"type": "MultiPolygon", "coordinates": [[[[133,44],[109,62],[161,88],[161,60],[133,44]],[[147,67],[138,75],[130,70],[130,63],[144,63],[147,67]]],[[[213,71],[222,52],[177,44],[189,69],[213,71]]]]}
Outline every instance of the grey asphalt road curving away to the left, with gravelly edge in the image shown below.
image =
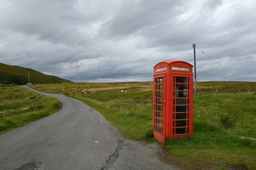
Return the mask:
{"type": "Polygon", "coordinates": [[[56,97],[62,108],[0,135],[1,170],[177,169],[164,160],[158,144],[121,138],[97,110],[85,103],[31,90],[56,97]]]}

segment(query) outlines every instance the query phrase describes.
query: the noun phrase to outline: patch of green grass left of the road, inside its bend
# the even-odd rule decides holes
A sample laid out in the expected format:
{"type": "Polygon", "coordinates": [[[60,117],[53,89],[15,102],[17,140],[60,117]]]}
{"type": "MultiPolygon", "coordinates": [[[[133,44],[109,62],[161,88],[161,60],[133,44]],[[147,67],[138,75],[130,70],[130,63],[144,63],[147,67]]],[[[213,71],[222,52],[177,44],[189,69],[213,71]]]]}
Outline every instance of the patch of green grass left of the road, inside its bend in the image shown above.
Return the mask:
{"type": "Polygon", "coordinates": [[[0,133],[55,113],[61,103],[17,85],[0,85],[0,133]]]}

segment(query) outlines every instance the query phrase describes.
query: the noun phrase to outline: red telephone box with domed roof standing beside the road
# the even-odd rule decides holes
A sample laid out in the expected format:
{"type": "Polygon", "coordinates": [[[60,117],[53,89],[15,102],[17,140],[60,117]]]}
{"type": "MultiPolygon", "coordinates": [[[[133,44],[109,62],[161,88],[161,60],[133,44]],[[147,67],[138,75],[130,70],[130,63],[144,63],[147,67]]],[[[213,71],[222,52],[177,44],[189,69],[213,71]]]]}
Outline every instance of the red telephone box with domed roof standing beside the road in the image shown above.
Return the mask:
{"type": "Polygon", "coordinates": [[[193,133],[192,67],[179,60],[154,67],[153,135],[162,143],[167,137],[193,133]]]}

